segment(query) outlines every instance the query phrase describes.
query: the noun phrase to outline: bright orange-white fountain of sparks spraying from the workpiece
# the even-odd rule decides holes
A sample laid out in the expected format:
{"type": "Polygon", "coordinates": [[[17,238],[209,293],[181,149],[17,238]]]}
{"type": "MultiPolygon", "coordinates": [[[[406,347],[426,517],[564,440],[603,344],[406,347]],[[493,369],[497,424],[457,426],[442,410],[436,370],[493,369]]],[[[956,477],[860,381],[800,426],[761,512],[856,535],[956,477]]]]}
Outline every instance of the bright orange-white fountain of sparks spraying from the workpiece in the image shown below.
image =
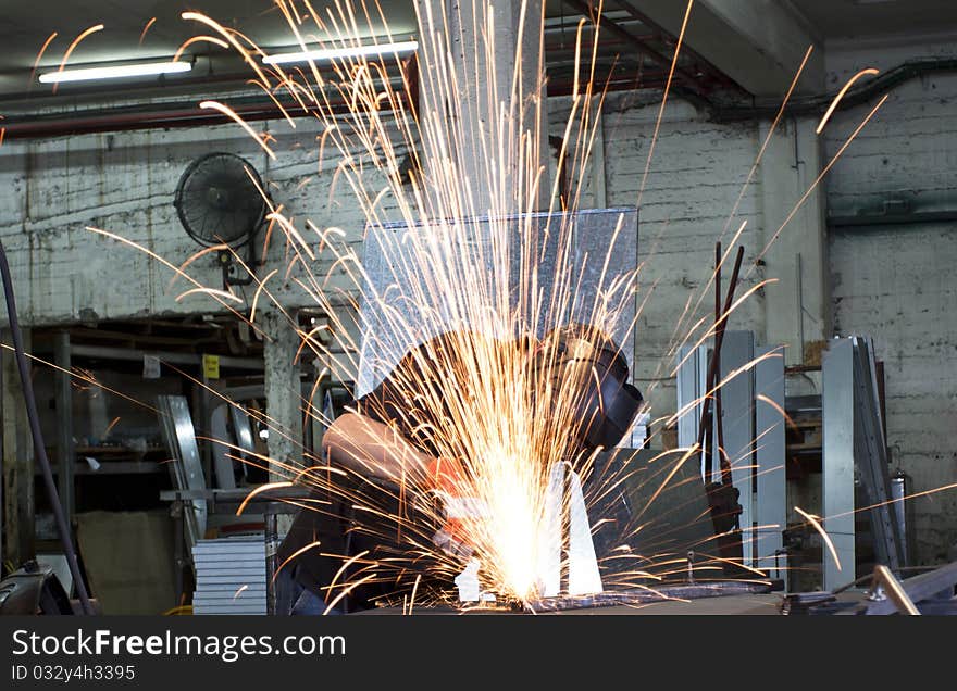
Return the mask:
{"type": "MultiPolygon", "coordinates": [[[[323,40],[316,39],[316,42],[333,48],[357,43],[361,15],[364,14],[371,21],[370,15],[374,12],[366,5],[361,5],[361,11],[357,11],[349,2],[339,2],[327,8],[320,17],[308,2],[306,4],[318,29],[325,36],[323,40]]],[[[692,5],[693,2],[688,1],[685,8],[668,81],[658,109],[638,192],[639,203],[650,173],[692,5]]],[[[279,9],[297,40],[304,45],[308,35],[300,33],[301,13],[290,10],[285,3],[279,3],[279,9]]],[[[381,16],[382,9],[376,7],[375,10],[380,13],[376,18],[387,24],[387,17],[381,16]]],[[[445,331],[446,338],[442,343],[426,341],[421,352],[410,355],[411,365],[408,368],[393,372],[391,382],[407,409],[400,411],[400,414],[410,418],[407,422],[414,435],[427,438],[438,457],[453,458],[461,465],[462,479],[458,489],[462,498],[474,500],[476,505],[486,508],[481,517],[461,525],[463,540],[481,555],[483,591],[527,604],[538,595],[537,581],[543,556],[537,553],[535,545],[542,537],[540,517],[551,469],[559,465],[571,467],[585,479],[595,472],[594,455],[577,450],[569,430],[576,429],[582,424],[576,417],[580,403],[576,391],[597,375],[591,368],[583,368],[580,374],[569,374],[559,357],[558,344],[554,340],[539,338],[536,325],[543,322],[563,323],[569,315],[579,314],[574,307],[582,300],[580,287],[583,279],[580,269],[573,264],[573,216],[556,213],[555,206],[566,204],[569,212],[576,211],[586,181],[584,172],[599,124],[599,118],[593,114],[593,105],[597,102],[600,108],[605,96],[600,90],[597,96],[595,93],[599,27],[594,20],[577,22],[572,106],[564,124],[566,136],[561,148],[562,161],[566,158],[569,160],[562,166],[569,166],[571,189],[567,200],[559,201],[558,196],[552,194],[542,204],[540,210],[545,211],[547,223],[544,233],[539,234],[538,228],[529,221],[518,223],[517,228],[501,221],[510,214],[527,216],[530,211],[539,211],[539,187],[545,188],[545,194],[542,196],[547,196],[552,187],[543,177],[545,166],[544,161],[539,161],[542,152],[537,150],[538,135],[542,134],[538,130],[542,126],[540,117],[537,117],[540,115],[537,110],[540,105],[535,95],[523,93],[519,68],[522,64],[521,41],[512,48],[517,51],[514,56],[518,60],[515,70],[510,75],[511,81],[502,85],[507,96],[501,100],[489,99],[483,112],[474,113],[488,124],[478,136],[467,130],[462,121],[443,117],[443,113],[446,110],[460,113],[469,108],[477,110],[478,106],[469,104],[464,99],[461,85],[465,83],[487,83],[490,89],[497,88],[494,83],[499,77],[495,70],[488,75],[481,74],[481,70],[486,68],[481,65],[494,64],[494,60],[489,58],[498,54],[495,49],[494,13],[476,4],[473,8],[474,16],[457,17],[461,21],[474,21],[481,29],[476,30],[480,38],[475,54],[465,55],[464,61],[457,63],[451,50],[456,37],[448,32],[447,23],[450,17],[433,16],[431,3],[417,3],[415,10],[423,28],[420,32],[423,53],[419,58],[423,95],[414,103],[409,93],[410,85],[405,71],[400,73],[401,78],[395,74],[400,67],[397,60],[387,56],[378,61],[334,60],[328,71],[323,71],[323,75],[319,74],[315,65],[311,65],[311,72],[296,70],[284,73],[278,68],[264,71],[257,59],[264,53],[258,47],[235,29],[227,29],[195,12],[184,12],[181,16],[211,27],[222,38],[194,37],[181,46],[177,56],[186,46],[198,40],[208,40],[222,48],[232,47],[256,73],[256,78],[250,79],[249,84],[263,90],[279,106],[287,122],[290,118],[282,103],[289,103],[289,99],[313,116],[322,131],[318,138],[318,175],[330,181],[331,202],[334,200],[334,192],[345,190],[344,193],[350,196],[350,203],[361,212],[365,222],[363,239],[378,239],[384,244],[384,253],[391,262],[389,269],[395,282],[398,285],[403,276],[414,276],[417,280],[411,281],[405,290],[400,290],[397,285],[381,291],[375,290],[366,274],[368,267],[356,251],[356,237],[346,234],[341,228],[322,228],[308,219],[304,226],[315,235],[303,236],[296,226],[294,214],[282,205],[273,205],[262,189],[259,192],[265,200],[269,213],[265,216],[268,227],[261,246],[260,266],[247,266],[234,250],[228,250],[251,277],[251,281],[256,282],[248,319],[233,309],[231,303],[241,302],[235,294],[202,286],[186,273],[187,268],[196,265],[198,259],[214,251],[213,248],[194,254],[179,267],[169,262],[163,263],[174,272],[171,286],[181,277],[190,284],[190,288],[181,293],[177,300],[187,294],[202,292],[216,299],[250,325],[253,325],[257,315],[262,311],[262,301],[269,301],[278,310],[288,322],[288,327],[300,339],[296,359],[308,348],[321,362],[322,374],[316,378],[308,399],[300,393],[300,407],[304,418],[312,418],[323,425],[332,420],[326,419],[314,407],[314,392],[320,378],[347,381],[351,380],[358,369],[362,343],[357,334],[361,334],[363,327],[360,305],[377,307],[388,327],[366,336],[371,340],[369,351],[373,353],[391,352],[421,342],[423,335],[445,331]],[[586,29],[592,33],[591,51],[584,38],[586,29]],[[584,72],[581,70],[582,63],[589,60],[588,55],[589,76],[585,78],[584,75],[580,76],[580,72],[584,72]],[[536,124],[530,126],[526,120],[533,115],[536,116],[536,124]],[[477,141],[470,141],[473,138],[477,141]],[[463,169],[457,156],[457,151],[462,150],[467,143],[474,143],[474,149],[478,152],[475,169],[472,171],[463,169]],[[326,150],[335,154],[332,163],[324,156],[326,150]],[[403,180],[398,171],[406,155],[411,156],[415,164],[414,169],[421,174],[417,173],[410,179],[403,180]],[[487,247],[474,242],[474,229],[455,221],[474,217],[488,218],[487,247]],[[395,223],[399,230],[394,236],[389,235],[385,230],[386,223],[395,223]],[[271,246],[274,230],[282,233],[285,239],[285,242],[272,243],[275,247],[271,246]],[[508,241],[512,234],[518,236],[514,249],[508,241]],[[309,241],[306,237],[309,237],[309,241]],[[538,262],[549,243],[558,248],[555,266],[547,271],[539,269],[538,262]],[[290,290],[301,289],[308,301],[314,302],[323,314],[328,315],[328,325],[321,328],[327,329],[333,338],[318,338],[316,329],[300,327],[297,319],[283,307],[278,289],[275,290],[276,294],[270,291],[266,284],[275,278],[281,268],[271,268],[262,279],[257,276],[259,268],[265,266],[270,253],[278,254],[274,259],[285,263],[285,278],[288,280],[284,282],[284,288],[288,286],[290,290]],[[520,266],[517,297],[511,290],[513,286],[510,280],[513,260],[520,266]],[[544,292],[546,285],[552,288],[547,296],[544,292]],[[413,314],[417,316],[407,316],[402,311],[406,306],[414,307],[413,314]],[[471,330],[448,331],[449,324],[469,325],[471,330]],[[515,336],[535,341],[534,352],[509,346],[515,336]],[[434,381],[434,389],[426,387],[422,390],[420,382],[423,379],[434,381]],[[548,402],[547,410],[540,404],[542,401],[548,402]],[[424,417],[428,422],[411,419],[413,409],[425,411],[427,415],[424,417]]],[[[523,3],[522,13],[525,10],[523,3]]],[[[313,40],[314,37],[308,38],[313,40]]],[[[780,121],[809,55],[810,49],[794,77],[771,131],[780,121]]],[[[542,66],[539,58],[538,87],[544,85],[542,66]]],[[[273,147],[277,150],[279,142],[272,135],[253,130],[225,103],[203,101],[200,108],[216,110],[239,124],[271,160],[276,160],[273,147]]],[[[768,133],[745,186],[760,163],[771,131],[768,133]]],[[[744,190],[730,218],[736,213],[743,194],[744,190]]],[[[805,199],[798,202],[797,208],[805,199]]],[[[337,198],[334,201],[341,203],[337,198]]],[[[790,217],[782,228],[787,221],[790,217]]],[[[729,225],[725,225],[725,230],[729,225]]],[[[616,239],[622,227],[620,218],[614,230],[616,239]]],[[[735,239],[744,229],[745,224],[742,224],[735,239]]],[[[114,234],[96,231],[135,246],[114,234]]],[[[223,246],[220,248],[224,251],[226,249],[223,246]]],[[[137,246],[137,249],[156,256],[146,248],[137,246]]],[[[612,241],[604,256],[591,260],[601,269],[599,290],[594,303],[582,305],[581,318],[589,325],[592,336],[630,332],[638,318],[637,315],[631,316],[631,313],[634,312],[636,302],[641,267],[629,269],[623,275],[614,275],[611,271],[611,262],[616,260],[614,251],[612,241]]],[[[730,252],[729,246],[728,253],[730,252]]],[[[721,316],[716,327],[726,322],[745,300],[772,280],[761,281],[745,291],[744,296],[734,301],[728,313],[721,316]]],[[[642,306],[646,300],[647,297],[641,301],[642,306]]],[[[683,318],[685,315],[694,318],[696,310],[692,305],[689,299],[683,318]]],[[[697,338],[697,331],[703,324],[704,322],[699,322],[687,338],[697,338]]],[[[674,332],[679,332],[678,326],[674,332]]],[[[747,372],[760,361],[761,357],[756,359],[754,363],[731,373],[707,395],[713,395],[720,386],[747,372]]],[[[236,405],[208,385],[197,382],[197,386],[206,387],[204,390],[213,395],[236,405]]],[[[281,420],[271,419],[259,412],[253,416],[277,430],[277,434],[297,448],[302,447],[302,440],[293,439],[281,420]]],[[[390,430],[399,435],[397,425],[390,430]]],[[[226,447],[234,452],[231,457],[239,457],[243,452],[247,458],[245,462],[250,465],[268,469],[273,477],[288,478],[270,482],[250,492],[237,515],[258,493],[295,485],[318,490],[328,499],[351,506],[357,516],[357,529],[398,542],[396,552],[386,551],[383,554],[369,554],[366,551],[355,556],[322,553],[324,557],[340,558],[343,562],[332,582],[322,586],[328,594],[326,612],[332,611],[348,593],[363,583],[386,580],[394,576],[397,588],[403,588],[407,593],[411,588],[411,598],[405,601],[407,610],[411,613],[417,599],[422,601],[421,588],[428,582],[422,581],[423,575],[435,575],[449,581],[461,570],[460,560],[445,554],[432,542],[435,527],[445,525],[446,515],[434,501],[436,488],[431,483],[431,478],[417,465],[403,464],[399,477],[393,478],[393,483],[382,485],[368,478],[362,472],[363,468],[374,466],[374,460],[363,452],[355,453],[355,463],[333,466],[310,455],[307,450],[302,452],[303,463],[299,464],[271,458],[265,454],[249,454],[228,443],[226,447]],[[407,513],[410,506],[421,512],[425,519],[410,519],[407,513]],[[361,568],[358,573],[349,574],[347,571],[351,566],[361,568]],[[334,593],[335,596],[332,596],[334,593]]],[[[695,448],[681,450],[681,456],[676,463],[672,462],[673,465],[659,463],[654,466],[654,472],[650,473],[652,479],[646,479],[654,482],[648,486],[654,490],[650,492],[648,505],[660,501],[662,494],[673,487],[682,465],[696,451],[695,448]]],[[[608,477],[600,477],[598,493],[619,491],[626,479],[633,479],[625,473],[624,469],[616,470],[608,477]]],[[[331,503],[325,499],[285,501],[316,510],[321,506],[323,511],[330,511],[327,506],[331,503]]],[[[646,508],[647,505],[643,507],[643,513],[646,508]]],[[[710,519],[707,515],[699,518],[710,519]]],[[[639,520],[634,523],[636,525],[627,526],[629,537],[639,535],[644,528],[639,520]]],[[[599,519],[595,528],[601,525],[602,520],[599,519]]],[[[686,569],[685,560],[675,557],[660,545],[646,554],[637,554],[626,544],[629,537],[623,538],[622,544],[613,551],[613,558],[641,561],[629,562],[627,570],[612,579],[617,583],[647,588],[647,581],[657,582],[662,579],[662,575],[672,570],[679,576],[683,575],[686,569]],[[651,573],[651,566],[669,570],[651,573]]],[[[307,545],[294,556],[316,546],[318,542],[307,545]]],[[[279,568],[290,560],[284,562],[279,568]]],[[[721,557],[704,553],[701,562],[695,564],[696,573],[700,570],[717,575],[722,573],[722,568],[721,557]]],[[[762,575],[756,569],[751,570],[756,576],[762,575]]],[[[430,596],[425,595],[426,599],[430,596]]]]}

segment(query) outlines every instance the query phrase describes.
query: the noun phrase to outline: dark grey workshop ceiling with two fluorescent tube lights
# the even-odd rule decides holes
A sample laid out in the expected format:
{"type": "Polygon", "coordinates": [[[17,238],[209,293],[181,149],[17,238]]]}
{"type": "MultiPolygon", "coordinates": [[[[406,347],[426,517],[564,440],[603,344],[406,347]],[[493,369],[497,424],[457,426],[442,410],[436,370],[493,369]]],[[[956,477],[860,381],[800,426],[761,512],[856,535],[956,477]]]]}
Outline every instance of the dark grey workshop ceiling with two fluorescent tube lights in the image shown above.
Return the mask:
{"type": "MultiPolygon", "coordinates": [[[[546,0],[546,14],[551,17],[552,27],[546,40],[546,45],[549,46],[548,64],[552,68],[557,66],[554,71],[549,71],[550,75],[559,73],[562,65],[568,72],[573,64],[570,55],[574,47],[574,26],[577,17],[581,16],[579,12],[583,11],[583,8],[587,11],[589,1],[546,0]]],[[[394,34],[415,32],[412,0],[380,0],[380,2],[394,34]]],[[[57,103],[49,103],[50,87],[37,85],[36,75],[33,74],[37,55],[53,32],[57,36],[37,63],[40,72],[57,68],[71,41],[80,32],[98,23],[102,23],[104,28],[91,34],[76,47],[70,56],[71,65],[169,58],[187,38],[199,33],[211,33],[197,22],[184,21],[181,17],[184,10],[202,12],[225,26],[241,30],[252,41],[268,50],[296,45],[293,32],[272,0],[71,0],[55,3],[55,10],[48,10],[47,3],[33,4],[28,1],[11,0],[4,4],[7,7],[0,14],[0,41],[3,46],[0,58],[0,114],[8,111],[23,112],[22,109],[7,108],[14,102],[21,105],[26,103],[27,108],[33,110],[57,108],[57,103]],[[148,30],[144,33],[148,24],[148,30]]],[[[331,4],[331,0],[313,0],[313,7],[316,9],[324,10],[331,4]]],[[[300,9],[304,8],[301,0],[296,0],[296,5],[300,9]]],[[[608,63],[616,64],[618,75],[626,75],[623,83],[627,79],[636,83],[637,77],[631,75],[642,74],[643,86],[655,87],[660,84],[660,80],[656,84],[654,75],[656,71],[658,75],[668,72],[667,62],[671,54],[669,47],[673,46],[671,36],[676,34],[680,26],[683,7],[681,0],[667,0],[667,2],[606,0],[607,16],[627,28],[626,34],[606,32],[602,39],[602,43],[608,46],[606,48],[609,55],[608,63]],[[664,8],[658,10],[664,18],[659,18],[655,5],[664,8]],[[648,20],[655,24],[643,25],[643,21],[648,20]],[[648,41],[647,45],[652,46],[650,52],[642,50],[642,41],[648,41]],[[662,55],[666,59],[663,68],[662,55]]],[[[759,93],[760,88],[746,84],[735,72],[732,56],[735,47],[731,43],[741,42],[735,38],[737,34],[730,35],[731,38],[721,37],[718,36],[720,32],[714,27],[728,25],[730,18],[738,26],[753,25],[757,38],[760,38],[760,34],[770,36],[771,29],[767,26],[761,29],[761,22],[771,22],[768,18],[769,14],[782,12],[795,16],[797,24],[794,27],[800,25],[803,32],[817,40],[940,30],[957,25],[955,0],[699,0],[692,15],[684,51],[689,53],[691,58],[683,54],[682,59],[688,62],[683,62],[679,70],[684,86],[687,87],[693,80],[699,79],[703,84],[708,84],[700,89],[700,93],[707,96],[710,89],[736,80],[746,91],[759,93]],[[716,18],[710,24],[709,12],[716,18]],[[748,13],[751,18],[745,22],[745,15],[748,13]],[[709,42],[713,45],[709,46],[709,42]],[[695,51],[698,52],[697,55],[695,51]],[[731,78],[728,79],[726,75],[731,78]]],[[[315,30],[311,22],[307,26],[315,30]]],[[[370,33],[382,34],[382,28],[372,26],[370,33]]],[[[793,34],[794,32],[788,29],[783,37],[778,37],[781,40],[776,42],[799,43],[798,52],[803,53],[807,43],[804,42],[803,37],[795,38],[793,34]]],[[[194,54],[206,53],[206,58],[209,59],[206,72],[198,75],[196,74],[198,71],[194,71],[189,77],[170,77],[164,88],[177,84],[176,80],[183,85],[192,84],[187,79],[195,78],[196,84],[202,84],[202,89],[208,89],[211,88],[208,85],[212,77],[222,80],[223,75],[229,74],[231,70],[236,77],[234,83],[237,80],[241,83],[241,79],[249,76],[248,68],[236,64],[232,51],[223,51],[204,42],[194,43],[189,50],[194,54]]],[[[766,62],[775,58],[773,52],[765,50],[765,47],[755,54],[763,55],[761,60],[766,62]]],[[[780,58],[782,74],[790,75],[796,64],[794,56],[788,53],[776,58],[780,58]]],[[[756,62],[760,60],[749,53],[743,64],[747,66],[756,62]]],[[[779,83],[784,78],[775,77],[771,83],[771,90],[779,89],[779,83]]],[[[61,97],[57,100],[63,99],[60,102],[65,105],[67,97],[80,93],[79,88],[88,89],[88,87],[63,85],[60,90],[61,97]]],[[[187,86],[183,87],[183,89],[187,88],[187,86]]],[[[809,88],[815,90],[816,87],[809,88]]],[[[115,90],[110,96],[115,97],[115,90]]],[[[102,98],[105,99],[107,95],[103,93],[102,98]]],[[[133,93],[130,98],[135,98],[133,93]]]]}

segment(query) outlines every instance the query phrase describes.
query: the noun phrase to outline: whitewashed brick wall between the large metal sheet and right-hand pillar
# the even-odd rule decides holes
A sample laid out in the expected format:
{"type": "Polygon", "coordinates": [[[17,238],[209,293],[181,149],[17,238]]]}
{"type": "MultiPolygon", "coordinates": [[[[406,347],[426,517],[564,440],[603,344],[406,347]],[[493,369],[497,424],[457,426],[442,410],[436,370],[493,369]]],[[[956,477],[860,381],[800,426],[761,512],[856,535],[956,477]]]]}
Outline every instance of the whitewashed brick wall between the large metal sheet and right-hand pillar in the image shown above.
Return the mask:
{"type": "MultiPolygon", "coordinates": [[[[643,95],[638,100],[622,95],[607,105],[604,153],[610,206],[638,202],[659,103],[660,97],[643,95]]],[[[760,278],[749,272],[761,249],[765,225],[757,176],[730,219],[759,146],[754,123],[710,123],[680,100],[671,101],[664,111],[644,179],[638,222],[638,303],[644,306],[635,334],[636,386],[651,401],[652,418],[674,412],[672,370],[678,347],[701,337],[703,328],[693,328],[699,319],[705,318],[704,328],[713,322],[714,243],[721,238],[726,250],[745,219],[748,225],[737,240],[745,247],[738,294],[760,278]]],[[[723,269],[722,290],[726,290],[733,260],[734,252],[723,269]]],[[[730,328],[750,328],[763,338],[760,294],[735,312],[730,328]]]]}

